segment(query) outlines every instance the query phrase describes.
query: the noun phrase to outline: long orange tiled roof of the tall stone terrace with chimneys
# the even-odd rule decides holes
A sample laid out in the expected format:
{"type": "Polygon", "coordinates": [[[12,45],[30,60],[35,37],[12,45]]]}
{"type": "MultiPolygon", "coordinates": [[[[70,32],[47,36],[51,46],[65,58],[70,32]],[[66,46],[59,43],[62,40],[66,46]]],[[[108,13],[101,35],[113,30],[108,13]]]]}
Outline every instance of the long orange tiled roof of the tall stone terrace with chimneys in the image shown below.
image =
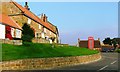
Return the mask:
{"type": "Polygon", "coordinates": [[[49,30],[51,30],[52,32],[55,32],[52,28],[50,28],[50,25],[46,22],[43,22],[39,17],[37,17],[35,14],[33,14],[32,12],[30,12],[29,10],[27,10],[26,8],[22,7],[21,5],[19,5],[16,2],[12,2],[13,4],[15,4],[27,17],[31,18],[32,20],[38,22],[39,24],[45,26],[46,28],[48,28],[49,30]]]}

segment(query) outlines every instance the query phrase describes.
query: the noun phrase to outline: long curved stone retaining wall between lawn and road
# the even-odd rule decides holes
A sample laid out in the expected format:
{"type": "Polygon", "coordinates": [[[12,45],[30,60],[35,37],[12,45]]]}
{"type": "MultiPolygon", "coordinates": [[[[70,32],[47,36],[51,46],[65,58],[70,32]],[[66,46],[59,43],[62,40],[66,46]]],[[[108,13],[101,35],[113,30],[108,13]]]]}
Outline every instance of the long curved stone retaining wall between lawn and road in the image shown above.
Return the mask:
{"type": "Polygon", "coordinates": [[[43,70],[52,69],[56,67],[72,66],[79,64],[86,64],[101,59],[101,54],[94,54],[88,56],[74,56],[74,57],[55,57],[55,58],[38,58],[38,59],[24,59],[16,61],[2,62],[2,70],[43,70]]]}

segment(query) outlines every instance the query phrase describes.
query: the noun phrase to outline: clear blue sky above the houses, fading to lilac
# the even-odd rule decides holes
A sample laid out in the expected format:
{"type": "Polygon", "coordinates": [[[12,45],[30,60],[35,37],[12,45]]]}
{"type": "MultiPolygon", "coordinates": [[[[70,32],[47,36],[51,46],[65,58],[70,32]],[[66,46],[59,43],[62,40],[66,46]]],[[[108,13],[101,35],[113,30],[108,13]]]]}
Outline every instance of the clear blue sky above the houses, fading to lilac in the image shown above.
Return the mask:
{"type": "MultiPolygon", "coordinates": [[[[24,6],[24,2],[19,2],[24,6]]],[[[61,43],[75,45],[78,38],[118,37],[117,2],[28,2],[30,10],[58,27],[61,43]]]]}

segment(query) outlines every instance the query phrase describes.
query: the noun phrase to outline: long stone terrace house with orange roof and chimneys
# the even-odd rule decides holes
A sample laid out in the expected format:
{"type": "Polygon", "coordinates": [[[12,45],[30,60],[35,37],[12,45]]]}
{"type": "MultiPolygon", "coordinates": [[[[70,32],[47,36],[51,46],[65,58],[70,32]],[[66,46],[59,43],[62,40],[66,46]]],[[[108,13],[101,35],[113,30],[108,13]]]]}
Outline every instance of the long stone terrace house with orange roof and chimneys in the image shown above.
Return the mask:
{"type": "Polygon", "coordinates": [[[49,42],[58,43],[59,32],[57,27],[47,20],[45,14],[42,14],[41,18],[39,18],[32,13],[27,2],[25,2],[24,7],[13,1],[3,2],[1,6],[2,13],[10,16],[20,27],[22,27],[24,23],[27,23],[33,28],[35,32],[33,42],[44,39],[49,42]]]}

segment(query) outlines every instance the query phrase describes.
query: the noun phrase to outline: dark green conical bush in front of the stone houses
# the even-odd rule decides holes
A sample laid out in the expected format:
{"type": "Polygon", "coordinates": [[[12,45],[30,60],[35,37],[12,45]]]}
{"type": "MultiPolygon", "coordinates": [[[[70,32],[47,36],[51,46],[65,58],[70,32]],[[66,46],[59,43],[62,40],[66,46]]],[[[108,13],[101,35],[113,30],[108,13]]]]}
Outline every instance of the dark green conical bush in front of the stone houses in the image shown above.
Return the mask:
{"type": "Polygon", "coordinates": [[[32,42],[32,39],[34,38],[34,31],[27,23],[24,23],[22,27],[22,40],[23,42],[32,42]]]}

